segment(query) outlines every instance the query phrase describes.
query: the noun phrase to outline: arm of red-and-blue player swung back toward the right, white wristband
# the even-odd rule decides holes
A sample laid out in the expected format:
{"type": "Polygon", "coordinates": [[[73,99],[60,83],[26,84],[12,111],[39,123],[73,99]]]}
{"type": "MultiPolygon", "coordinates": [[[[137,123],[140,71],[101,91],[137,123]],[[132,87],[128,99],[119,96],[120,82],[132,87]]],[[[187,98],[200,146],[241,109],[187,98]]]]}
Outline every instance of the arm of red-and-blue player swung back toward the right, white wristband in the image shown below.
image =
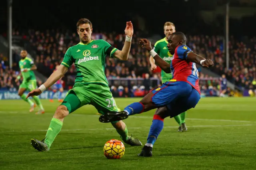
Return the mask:
{"type": "Polygon", "coordinates": [[[212,67],[214,63],[211,59],[205,59],[204,57],[201,57],[200,55],[197,55],[196,53],[188,53],[187,61],[197,63],[199,65],[202,65],[203,67],[212,67]]]}

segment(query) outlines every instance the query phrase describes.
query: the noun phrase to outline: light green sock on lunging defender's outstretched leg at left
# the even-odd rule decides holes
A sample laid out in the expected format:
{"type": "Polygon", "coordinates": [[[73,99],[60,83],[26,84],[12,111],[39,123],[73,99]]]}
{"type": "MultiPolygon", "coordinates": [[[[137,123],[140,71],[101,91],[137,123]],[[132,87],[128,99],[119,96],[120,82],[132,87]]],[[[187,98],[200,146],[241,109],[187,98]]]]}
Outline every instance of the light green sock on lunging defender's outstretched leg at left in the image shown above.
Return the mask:
{"type": "Polygon", "coordinates": [[[47,144],[48,148],[50,149],[52,142],[56,138],[56,136],[59,134],[61,128],[62,128],[62,121],[56,118],[52,118],[50,126],[46,132],[46,138],[44,142],[47,144]]]}

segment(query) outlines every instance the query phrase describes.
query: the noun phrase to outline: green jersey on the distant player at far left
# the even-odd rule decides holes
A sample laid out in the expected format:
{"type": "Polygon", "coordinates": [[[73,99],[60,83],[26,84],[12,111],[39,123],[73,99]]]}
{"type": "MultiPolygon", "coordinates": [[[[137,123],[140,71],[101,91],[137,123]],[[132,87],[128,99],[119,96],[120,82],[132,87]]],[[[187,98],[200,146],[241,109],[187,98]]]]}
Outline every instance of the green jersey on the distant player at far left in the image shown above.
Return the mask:
{"type": "Polygon", "coordinates": [[[30,59],[28,57],[25,57],[24,59],[21,59],[19,61],[20,71],[21,71],[24,82],[27,82],[30,80],[36,80],[34,71],[32,71],[32,70],[27,71],[27,72],[23,71],[23,69],[30,69],[32,67],[32,65],[34,65],[34,62],[32,61],[32,59],[30,59]]]}

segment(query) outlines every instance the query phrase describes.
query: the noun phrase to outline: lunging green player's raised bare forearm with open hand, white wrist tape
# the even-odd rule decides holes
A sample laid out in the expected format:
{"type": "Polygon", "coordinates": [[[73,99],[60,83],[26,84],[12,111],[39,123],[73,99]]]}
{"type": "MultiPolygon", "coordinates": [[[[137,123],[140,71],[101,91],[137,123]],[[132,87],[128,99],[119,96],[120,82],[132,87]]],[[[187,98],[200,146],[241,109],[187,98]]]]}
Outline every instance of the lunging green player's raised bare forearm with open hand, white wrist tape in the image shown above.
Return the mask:
{"type": "Polygon", "coordinates": [[[126,22],[126,28],[124,30],[126,38],[124,42],[124,47],[122,51],[116,50],[114,53],[114,56],[120,60],[127,60],[129,56],[129,52],[131,49],[131,43],[132,43],[132,35],[133,35],[133,26],[132,22],[126,22]]]}

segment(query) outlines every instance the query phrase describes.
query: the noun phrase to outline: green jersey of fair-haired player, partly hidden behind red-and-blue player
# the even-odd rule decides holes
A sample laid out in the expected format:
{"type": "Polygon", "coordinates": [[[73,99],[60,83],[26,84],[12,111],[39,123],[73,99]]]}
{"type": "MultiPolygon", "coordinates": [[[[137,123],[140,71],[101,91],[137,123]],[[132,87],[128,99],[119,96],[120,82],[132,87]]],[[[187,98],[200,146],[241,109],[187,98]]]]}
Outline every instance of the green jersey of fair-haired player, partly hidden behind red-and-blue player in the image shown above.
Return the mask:
{"type": "MultiPolygon", "coordinates": [[[[173,55],[169,52],[167,48],[167,40],[163,38],[162,40],[159,40],[154,45],[154,51],[158,53],[158,55],[167,63],[171,63],[173,59],[173,55]]],[[[163,70],[161,71],[161,77],[162,78],[170,78],[172,79],[172,73],[165,73],[163,70]]]]}

